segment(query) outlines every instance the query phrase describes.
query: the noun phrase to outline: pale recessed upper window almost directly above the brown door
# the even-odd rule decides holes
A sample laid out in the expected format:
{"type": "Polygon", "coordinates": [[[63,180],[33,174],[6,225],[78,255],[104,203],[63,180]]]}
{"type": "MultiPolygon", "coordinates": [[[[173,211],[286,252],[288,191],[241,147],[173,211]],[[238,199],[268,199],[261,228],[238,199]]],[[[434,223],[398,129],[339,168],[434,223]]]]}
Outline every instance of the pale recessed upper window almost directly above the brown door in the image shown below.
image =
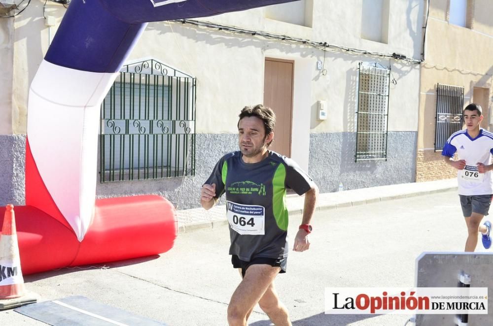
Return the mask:
{"type": "Polygon", "coordinates": [[[299,0],[266,6],[265,17],[290,24],[312,27],[313,0],[299,0]]]}

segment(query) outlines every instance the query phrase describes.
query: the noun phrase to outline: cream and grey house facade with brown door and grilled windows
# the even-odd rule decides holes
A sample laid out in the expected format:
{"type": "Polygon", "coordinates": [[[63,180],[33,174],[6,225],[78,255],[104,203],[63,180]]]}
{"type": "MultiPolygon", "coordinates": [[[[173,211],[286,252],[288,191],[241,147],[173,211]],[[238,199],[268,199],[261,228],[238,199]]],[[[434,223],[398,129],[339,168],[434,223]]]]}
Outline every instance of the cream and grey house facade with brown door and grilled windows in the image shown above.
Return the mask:
{"type": "MultiPolygon", "coordinates": [[[[414,182],[424,9],[301,0],[149,23],[102,105],[96,196],[198,207],[214,164],[238,149],[240,110],[257,103],[277,114],[273,150],[321,192],[414,182]]],[[[24,203],[29,85],[65,10],[32,0],[0,18],[0,204],[24,203]]]]}

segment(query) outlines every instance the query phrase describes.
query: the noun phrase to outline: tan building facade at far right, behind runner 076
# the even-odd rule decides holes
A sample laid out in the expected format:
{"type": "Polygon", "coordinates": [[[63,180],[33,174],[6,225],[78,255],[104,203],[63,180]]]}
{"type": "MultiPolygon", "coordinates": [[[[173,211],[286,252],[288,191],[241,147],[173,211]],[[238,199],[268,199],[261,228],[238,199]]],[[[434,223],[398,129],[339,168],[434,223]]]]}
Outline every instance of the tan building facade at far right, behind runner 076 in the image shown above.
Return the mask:
{"type": "Polygon", "coordinates": [[[416,181],[452,178],[443,162],[445,140],[463,128],[469,103],[483,108],[483,128],[492,126],[493,3],[431,0],[421,71],[416,181]]]}

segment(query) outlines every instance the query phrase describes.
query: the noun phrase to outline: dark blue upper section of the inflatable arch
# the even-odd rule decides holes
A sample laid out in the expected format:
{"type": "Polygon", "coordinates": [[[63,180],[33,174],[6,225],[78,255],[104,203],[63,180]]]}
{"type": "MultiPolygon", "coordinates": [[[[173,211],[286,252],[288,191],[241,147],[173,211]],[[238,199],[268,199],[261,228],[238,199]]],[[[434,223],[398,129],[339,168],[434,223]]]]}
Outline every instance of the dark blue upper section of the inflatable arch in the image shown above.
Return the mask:
{"type": "Polygon", "coordinates": [[[293,0],[72,0],[45,60],[67,68],[116,72],[146,22],[212,16],[293,0]]]}

